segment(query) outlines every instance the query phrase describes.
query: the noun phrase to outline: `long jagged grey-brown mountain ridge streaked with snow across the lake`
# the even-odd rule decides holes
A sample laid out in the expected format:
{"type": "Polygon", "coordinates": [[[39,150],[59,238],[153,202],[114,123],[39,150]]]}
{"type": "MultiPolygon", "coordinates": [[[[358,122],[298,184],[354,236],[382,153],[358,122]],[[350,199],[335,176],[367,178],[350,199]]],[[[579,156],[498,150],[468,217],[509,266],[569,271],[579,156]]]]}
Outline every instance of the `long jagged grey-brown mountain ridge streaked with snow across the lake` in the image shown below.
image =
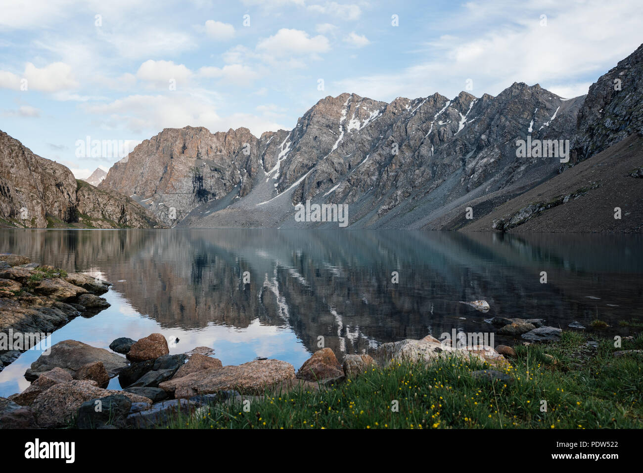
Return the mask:
{"type": "Polygon", "coordinates": [[[467,228],[642,128],[642,48],[572,99],[523,83],[480,98],[345,93],[320,100],[293,130],[259,138],[244,128],[164,129],[99,188],[168,226],[337,228],[295,219],[294,206],[311,201],[346,204],[351,228],[467,228]],[[521,154],[518,140],[556,140],[561,152],[521,154]]]}

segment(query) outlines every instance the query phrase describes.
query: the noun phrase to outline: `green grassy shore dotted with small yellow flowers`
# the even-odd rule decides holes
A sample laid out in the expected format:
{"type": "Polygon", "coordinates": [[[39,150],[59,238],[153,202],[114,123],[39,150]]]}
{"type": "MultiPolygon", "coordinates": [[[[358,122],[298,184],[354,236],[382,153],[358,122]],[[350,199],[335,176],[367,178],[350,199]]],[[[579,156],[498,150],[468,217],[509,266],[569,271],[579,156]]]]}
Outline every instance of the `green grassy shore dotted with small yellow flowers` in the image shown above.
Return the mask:
{"type": "Polygon", "coordinates": [[[587,337],[563,332],[556,343],[516,346],[503,370],[510,379],[476,379],[479,362],[442,359],[428,366],[397,364],[366,371],[320,391],[266,393],[240,403],[181,416],[182,429],[597,429],[643,427],[643,357],[619,350],[643,348],[643,334],[586,345],[587,337]],[[547,402],[546,410],[543,400],[547,402]],[[399,410],[393,408],[395,402],[399,410]]]}

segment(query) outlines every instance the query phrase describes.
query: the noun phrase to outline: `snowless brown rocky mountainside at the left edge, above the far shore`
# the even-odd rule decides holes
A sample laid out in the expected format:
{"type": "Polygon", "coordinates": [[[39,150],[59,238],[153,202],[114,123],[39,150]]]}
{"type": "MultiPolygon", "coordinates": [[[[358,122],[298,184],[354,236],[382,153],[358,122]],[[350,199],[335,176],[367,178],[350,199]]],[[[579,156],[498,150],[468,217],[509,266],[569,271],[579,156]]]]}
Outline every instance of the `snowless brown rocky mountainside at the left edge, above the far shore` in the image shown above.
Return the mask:
{"type": "Polygon", "coordinates": [[[160,226],[136,202],[75,179],[0,131],[0,225],[27,228],[160,226]]]}

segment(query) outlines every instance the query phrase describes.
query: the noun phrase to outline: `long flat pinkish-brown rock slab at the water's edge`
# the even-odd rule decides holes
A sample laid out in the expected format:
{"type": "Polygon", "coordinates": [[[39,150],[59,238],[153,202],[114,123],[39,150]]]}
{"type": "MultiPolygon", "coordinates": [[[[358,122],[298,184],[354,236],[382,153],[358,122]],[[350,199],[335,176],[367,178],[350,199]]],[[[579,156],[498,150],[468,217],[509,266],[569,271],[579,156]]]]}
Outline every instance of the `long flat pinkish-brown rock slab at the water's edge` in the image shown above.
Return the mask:
{"type": "Polygon", "coordinates": [[[293,365],[279,360],[258,360],[195,371],[159,384],[176,398],[190,398],[217,391],[237,390],[242,394],[263,394],[271,386],[294,378],[293,365]]]}

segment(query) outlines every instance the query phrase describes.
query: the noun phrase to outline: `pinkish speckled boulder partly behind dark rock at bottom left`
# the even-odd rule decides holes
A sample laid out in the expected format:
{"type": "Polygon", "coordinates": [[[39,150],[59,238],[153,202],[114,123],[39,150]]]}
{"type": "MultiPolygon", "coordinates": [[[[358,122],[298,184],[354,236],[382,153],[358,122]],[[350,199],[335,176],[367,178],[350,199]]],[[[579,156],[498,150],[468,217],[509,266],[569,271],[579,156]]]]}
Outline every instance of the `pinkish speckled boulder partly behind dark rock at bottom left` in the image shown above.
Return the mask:
{"type": "Polygon", "coordinates": [[[98,388],[95,381],[71,380],[56,384],[41,393],[33,401],[33,415],[40,427],[66,427],[73,422],[84,402],[116,394],[125,395],[132,402],[152,403],[149,398],[125,391],[98,388]]]}

